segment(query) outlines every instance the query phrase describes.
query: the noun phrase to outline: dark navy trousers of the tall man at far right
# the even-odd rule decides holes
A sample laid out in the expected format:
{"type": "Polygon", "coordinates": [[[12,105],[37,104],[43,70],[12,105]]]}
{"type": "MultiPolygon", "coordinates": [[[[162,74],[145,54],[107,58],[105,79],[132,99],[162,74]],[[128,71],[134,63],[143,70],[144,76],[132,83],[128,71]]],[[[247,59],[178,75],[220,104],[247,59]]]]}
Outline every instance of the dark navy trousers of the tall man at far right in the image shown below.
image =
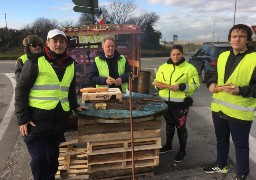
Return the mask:
{"type": "Polygon", "coordinates": [[[236,151],[237,175],[249,174],[249,134],[252,121],[227,120],[212,113],[217,138],[217,163],[227,166],[230,133],[236,151]]]}

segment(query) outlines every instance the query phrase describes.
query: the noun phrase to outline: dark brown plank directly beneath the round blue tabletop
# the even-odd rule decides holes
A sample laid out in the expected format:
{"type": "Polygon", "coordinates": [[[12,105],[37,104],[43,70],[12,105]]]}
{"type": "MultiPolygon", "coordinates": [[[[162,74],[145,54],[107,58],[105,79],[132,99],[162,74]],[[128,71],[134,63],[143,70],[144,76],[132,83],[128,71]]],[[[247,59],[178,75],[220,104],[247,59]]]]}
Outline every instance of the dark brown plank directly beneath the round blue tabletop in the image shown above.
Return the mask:
{"type": "MultiPolygon", "coordinates": [[[[94,124],[83,124],[84,121],[79,121],[78,134],[98,134],[98,133],[110,133],[110,132],[122,132],[130,130],[130,123],[94,123],[94,124]]],[[[161,121],[144,121],[134,122],[133,130],[147,130],[147,129],[160,129],[161,121]]]]}

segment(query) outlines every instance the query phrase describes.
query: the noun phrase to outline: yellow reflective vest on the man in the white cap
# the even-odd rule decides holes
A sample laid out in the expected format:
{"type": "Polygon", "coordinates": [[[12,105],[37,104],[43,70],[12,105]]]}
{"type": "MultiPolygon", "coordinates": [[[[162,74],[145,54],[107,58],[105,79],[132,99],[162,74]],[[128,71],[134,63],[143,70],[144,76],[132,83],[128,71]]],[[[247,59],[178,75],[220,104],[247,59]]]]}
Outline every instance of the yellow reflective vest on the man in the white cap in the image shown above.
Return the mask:
{"type": "Polygon", "coordinates": [[[54,69],[44,57],[38,59],[38,77],[29,94],[29,105],[39,109],[54,109],[59,102],[69,111],[68,92],[74,77],[74,63],[66,68],[60,82],[54,69]]]}

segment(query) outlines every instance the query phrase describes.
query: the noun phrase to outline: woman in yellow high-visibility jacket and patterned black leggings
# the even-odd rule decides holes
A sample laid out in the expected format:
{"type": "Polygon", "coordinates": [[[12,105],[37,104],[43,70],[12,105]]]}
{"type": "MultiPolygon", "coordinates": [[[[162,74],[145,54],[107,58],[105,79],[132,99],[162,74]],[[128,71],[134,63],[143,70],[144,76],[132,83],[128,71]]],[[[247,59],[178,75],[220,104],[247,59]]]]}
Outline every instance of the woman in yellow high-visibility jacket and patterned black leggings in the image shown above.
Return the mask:
{"type": "Polygon", "coordinates": [[[160,149],[160,153],[172,151],[176,127],[180,149],[173,161],[181,162],[186,157],[186,117],[193,103],[191,96],[200,87],[198,72],[185,61],[182,46],[174,45],[171,48],[170,58],[159,67],[154,81],[159,89],[159,96],[168,104],[168,111],[164,114],[166,144],[160,149]]]}

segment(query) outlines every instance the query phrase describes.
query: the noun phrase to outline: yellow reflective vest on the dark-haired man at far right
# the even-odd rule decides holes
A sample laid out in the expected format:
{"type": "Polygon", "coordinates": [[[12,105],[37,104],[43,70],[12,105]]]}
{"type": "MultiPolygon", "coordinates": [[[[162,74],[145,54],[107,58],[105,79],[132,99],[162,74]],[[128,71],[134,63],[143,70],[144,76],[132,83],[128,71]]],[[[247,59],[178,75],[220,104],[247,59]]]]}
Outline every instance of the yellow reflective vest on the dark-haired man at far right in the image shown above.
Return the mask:
{"type": "MultiPolygon", "coordinates": [[[[222,53],[217,61],[218,82],[224,85],[225,67],[227,59],[230,55],[229,51],[222,53]]],[[[248,86],[251,81],[252,74],[256,68],[256,53],[249,53],[237,65],[231,76],[225,84],[232,83],[235,86],[248,86]]],[[[240,120],[254,120],[254,111],[256,110],[256,98],[244,98],[241,95],[231,95],[226,92],[213,93],[213,101],[211,109],[214,112],[222,111],[229,117],[240,120]]]]}

